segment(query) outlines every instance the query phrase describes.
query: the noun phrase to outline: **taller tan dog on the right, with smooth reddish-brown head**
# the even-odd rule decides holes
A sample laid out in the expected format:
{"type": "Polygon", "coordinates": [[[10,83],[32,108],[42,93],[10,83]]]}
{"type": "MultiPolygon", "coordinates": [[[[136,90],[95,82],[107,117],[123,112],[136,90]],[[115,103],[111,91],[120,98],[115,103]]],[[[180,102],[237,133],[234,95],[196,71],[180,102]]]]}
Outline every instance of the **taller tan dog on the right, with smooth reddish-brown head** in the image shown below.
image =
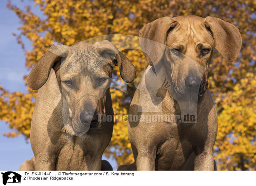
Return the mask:
{"type": "Polygon", "coordinates": [[[118,170],[214,170],[218,120],[207,70],[215,48],[236,60],[239,30],[219,18],[179,16],[154,20],[139,35],[150,65],[129,110],[135,162],[118,170]]]}

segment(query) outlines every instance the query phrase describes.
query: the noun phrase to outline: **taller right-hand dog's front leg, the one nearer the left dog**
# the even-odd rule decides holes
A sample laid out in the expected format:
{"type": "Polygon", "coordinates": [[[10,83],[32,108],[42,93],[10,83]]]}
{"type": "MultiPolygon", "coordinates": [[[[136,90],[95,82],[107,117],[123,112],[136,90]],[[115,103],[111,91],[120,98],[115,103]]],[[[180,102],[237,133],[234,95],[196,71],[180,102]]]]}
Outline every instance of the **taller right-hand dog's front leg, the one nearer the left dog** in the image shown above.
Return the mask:
{"type": "Polygon", "coordinates": [[[156,159],[156,147],[152,150],[140,151],[136,158],[137,171],[154,171],[156,159]]]}

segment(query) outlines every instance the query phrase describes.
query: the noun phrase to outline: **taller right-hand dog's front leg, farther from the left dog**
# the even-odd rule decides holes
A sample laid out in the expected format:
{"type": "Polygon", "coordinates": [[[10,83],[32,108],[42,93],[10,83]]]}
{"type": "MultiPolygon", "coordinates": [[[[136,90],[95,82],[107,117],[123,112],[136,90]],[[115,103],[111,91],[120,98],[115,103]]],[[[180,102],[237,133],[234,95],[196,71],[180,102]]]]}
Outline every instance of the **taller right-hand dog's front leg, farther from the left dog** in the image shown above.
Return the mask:
{"type": "Polygon", "coordinates": [[[212,151],[203,150],[201,153],[196,154],[195,157],[195,171],[213,171],[214,160],[212,151]]]}

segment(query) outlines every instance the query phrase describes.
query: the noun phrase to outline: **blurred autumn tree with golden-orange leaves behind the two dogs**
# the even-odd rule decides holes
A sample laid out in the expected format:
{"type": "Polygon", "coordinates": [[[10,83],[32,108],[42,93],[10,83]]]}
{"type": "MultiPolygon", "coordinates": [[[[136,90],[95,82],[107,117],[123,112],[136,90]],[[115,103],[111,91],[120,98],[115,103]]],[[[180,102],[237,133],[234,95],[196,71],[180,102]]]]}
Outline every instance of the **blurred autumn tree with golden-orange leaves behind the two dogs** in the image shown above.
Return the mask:
{"type": "MultiPolygon", "coordinates": [[[[164,16],[197,15],[219,17],[234,24],[242,35],[239,58],[227,62],[215,52],[209,66],[209,90],[218,110],[218,136],[215,160],[220,170],[256,169],[256,1],[255,0],[34,0],[44,16],[23,10],[8,1],[7,8],[20,18],[17,41],[22,47],[22,36],[32,42],[27,50],[26,67],[30,70],[54,42],[72,45],[78,41],[108,34],[138,35],[147,23],[164,16]]],[[[33,5],[32,5],[33,6],[33,5]]],[[[125,50],[137,68],[137,75],[146,67],[140,50],[125,50]]],[[[119,76],[118,69],[114,74],[119,76]]],[[[26,83],[26,82],[25,82],[26,83]]],[[[115,114],[127,114],[135,90],[111,90],[115,114]]],[[[29,138],[30,122],[36,91],[9,93],[0,86],[0,119],[6,121],[15,137],[29,138]]],[[[127,122],[116,122],[113,137],[105,155],[116,158],[118,164],[131,163],[131,145],[127,122]]],[[[29,159],[30,157],[28,157],[29,159]]]]}

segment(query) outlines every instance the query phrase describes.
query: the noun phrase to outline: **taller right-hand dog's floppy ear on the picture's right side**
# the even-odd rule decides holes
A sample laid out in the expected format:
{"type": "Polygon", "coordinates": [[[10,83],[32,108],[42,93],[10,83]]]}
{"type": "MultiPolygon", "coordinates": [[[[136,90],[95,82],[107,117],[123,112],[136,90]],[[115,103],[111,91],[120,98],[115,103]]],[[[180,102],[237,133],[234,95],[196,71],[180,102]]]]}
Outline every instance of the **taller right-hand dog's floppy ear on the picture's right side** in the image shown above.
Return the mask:
{"type": "Polygon", "coordinates": [[[236,26],[216,17],[206,17],[205,26],[212,33],[215,48],[228,61],[235,61],[239,55],[242,38],[236,26]]]}

